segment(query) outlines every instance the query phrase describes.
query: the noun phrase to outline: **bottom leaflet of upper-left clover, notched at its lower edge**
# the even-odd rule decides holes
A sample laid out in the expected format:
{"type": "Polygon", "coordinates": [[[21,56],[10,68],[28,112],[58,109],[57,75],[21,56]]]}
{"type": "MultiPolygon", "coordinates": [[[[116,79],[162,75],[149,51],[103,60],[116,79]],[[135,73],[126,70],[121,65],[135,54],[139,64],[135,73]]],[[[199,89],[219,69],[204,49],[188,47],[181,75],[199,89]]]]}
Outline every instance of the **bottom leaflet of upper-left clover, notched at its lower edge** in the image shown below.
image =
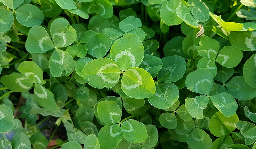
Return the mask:
{"type": "Polygon", "coordinates": [[[55,49],[49,60],[49,67],[53,77],[60,77],[63,70],[66,70],[66,73],[72,72],[75,62],[68,52],[55,49]]]}

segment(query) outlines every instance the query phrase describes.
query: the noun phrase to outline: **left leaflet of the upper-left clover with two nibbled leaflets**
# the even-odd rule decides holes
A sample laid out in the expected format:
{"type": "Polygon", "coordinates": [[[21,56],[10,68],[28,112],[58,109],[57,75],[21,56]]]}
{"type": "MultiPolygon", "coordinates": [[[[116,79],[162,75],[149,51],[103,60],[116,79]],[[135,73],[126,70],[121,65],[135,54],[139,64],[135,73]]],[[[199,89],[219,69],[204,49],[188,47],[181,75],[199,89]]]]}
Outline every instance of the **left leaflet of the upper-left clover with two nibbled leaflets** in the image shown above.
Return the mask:
{"type": "Polygon", "coordinates": [[[34,26],[28,32],[26,49],[30,53],[44,53],[54,48],[52,40],[42,26],[34,26]]]}

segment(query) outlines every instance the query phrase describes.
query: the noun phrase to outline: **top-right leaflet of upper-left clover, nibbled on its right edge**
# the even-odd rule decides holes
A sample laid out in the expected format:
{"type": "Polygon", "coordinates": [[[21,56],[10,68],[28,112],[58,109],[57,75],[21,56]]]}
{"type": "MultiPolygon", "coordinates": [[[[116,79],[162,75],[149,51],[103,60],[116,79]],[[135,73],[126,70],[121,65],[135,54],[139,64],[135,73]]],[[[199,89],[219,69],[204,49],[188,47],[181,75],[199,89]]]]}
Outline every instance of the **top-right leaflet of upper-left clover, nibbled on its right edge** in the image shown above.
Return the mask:
{"type": "Polygon", "coordinates": [[[58,18],[52,21],[50,30],[56,48],[67,47],[76,40],[76,31],[66,19],[58,18]]]}

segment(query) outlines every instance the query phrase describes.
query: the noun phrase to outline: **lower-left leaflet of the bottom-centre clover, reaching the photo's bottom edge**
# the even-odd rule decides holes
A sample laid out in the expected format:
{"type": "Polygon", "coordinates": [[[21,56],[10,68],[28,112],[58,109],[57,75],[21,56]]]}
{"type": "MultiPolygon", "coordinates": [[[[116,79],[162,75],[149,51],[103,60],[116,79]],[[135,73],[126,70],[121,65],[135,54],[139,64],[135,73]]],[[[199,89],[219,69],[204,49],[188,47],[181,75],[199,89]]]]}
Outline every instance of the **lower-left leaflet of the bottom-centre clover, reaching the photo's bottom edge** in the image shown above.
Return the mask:
{"type": "Polygon", "coordinates": [[[119,124],[105,125],[100,129],[98,140],[100,148],[116,149],[123,135],[119,124]]]}

